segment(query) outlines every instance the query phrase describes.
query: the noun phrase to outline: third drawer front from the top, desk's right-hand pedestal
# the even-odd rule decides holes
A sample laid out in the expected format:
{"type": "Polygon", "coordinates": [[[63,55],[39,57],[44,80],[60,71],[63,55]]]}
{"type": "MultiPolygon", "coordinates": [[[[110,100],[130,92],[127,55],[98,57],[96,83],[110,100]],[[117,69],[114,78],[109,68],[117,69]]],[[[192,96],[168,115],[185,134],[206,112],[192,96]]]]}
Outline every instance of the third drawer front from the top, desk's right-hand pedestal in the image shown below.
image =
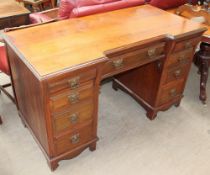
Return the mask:
{"type": "Polygon", "coordinates": [[[168,69],[165,84],[184,79],[188,73],[189,64],[168,69]]]}

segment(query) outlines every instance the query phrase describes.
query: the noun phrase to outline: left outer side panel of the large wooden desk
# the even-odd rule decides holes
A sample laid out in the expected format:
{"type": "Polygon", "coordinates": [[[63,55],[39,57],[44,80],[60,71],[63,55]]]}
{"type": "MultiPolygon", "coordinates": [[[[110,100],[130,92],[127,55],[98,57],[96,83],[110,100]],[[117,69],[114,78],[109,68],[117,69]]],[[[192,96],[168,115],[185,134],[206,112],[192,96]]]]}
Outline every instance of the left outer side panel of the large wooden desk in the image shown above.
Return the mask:
{"type": "Polygon", "coordinates": [[[42,82],[9,45],[7,49],[19,115],[44,152],[49,154],[42,82]]]}

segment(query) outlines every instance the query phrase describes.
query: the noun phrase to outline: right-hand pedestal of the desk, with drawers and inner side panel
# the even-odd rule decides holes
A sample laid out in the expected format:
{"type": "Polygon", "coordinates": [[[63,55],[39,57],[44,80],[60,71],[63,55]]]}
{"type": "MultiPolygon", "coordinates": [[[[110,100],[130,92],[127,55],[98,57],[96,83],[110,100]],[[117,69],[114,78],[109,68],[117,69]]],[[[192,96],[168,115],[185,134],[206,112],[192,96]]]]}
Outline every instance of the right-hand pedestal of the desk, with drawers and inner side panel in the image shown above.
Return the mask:
{"type": "Polygon", "coordinates": [[[120,88],[133,96],[146,109],[151,120],[158,111],[179,105],[201,34],[186,34],[181,39],[169,40],[165,58],[117,75],[113,88],[120,88]]]}

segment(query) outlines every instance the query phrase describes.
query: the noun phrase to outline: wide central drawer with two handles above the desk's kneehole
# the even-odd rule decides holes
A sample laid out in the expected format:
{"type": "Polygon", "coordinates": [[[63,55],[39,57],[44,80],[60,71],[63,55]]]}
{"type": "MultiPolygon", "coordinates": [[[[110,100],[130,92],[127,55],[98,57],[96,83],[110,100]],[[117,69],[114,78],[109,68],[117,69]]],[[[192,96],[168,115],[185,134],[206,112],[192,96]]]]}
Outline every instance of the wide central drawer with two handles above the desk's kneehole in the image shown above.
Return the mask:
{"type": "Polygon", "coordinates": [[[109,58],[109,61],[103,68],[103,75],[114,75],[121,71],[138,67],[141,64],[152,62],[161,56],[164,56],[165,44],[160,43],[153,47],[143,48],[135,51],[130,51],[124,54],[119,54],[109,58]]]}

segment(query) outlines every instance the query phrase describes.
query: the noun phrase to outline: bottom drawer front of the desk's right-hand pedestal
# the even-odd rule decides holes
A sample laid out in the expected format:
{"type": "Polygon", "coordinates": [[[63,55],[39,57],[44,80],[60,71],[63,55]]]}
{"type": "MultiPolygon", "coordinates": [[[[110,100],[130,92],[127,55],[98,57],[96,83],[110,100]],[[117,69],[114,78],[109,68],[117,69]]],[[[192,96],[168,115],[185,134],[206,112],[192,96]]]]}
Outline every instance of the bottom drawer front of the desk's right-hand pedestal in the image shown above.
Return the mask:
{"type": "Polygon", "coordinates": [[[158,105],[162,105],[173,100],[174,98],[180,97],[183,91],[183,83],[184,80],[180,80],[163,86],[158,99],[158,105]]]}

